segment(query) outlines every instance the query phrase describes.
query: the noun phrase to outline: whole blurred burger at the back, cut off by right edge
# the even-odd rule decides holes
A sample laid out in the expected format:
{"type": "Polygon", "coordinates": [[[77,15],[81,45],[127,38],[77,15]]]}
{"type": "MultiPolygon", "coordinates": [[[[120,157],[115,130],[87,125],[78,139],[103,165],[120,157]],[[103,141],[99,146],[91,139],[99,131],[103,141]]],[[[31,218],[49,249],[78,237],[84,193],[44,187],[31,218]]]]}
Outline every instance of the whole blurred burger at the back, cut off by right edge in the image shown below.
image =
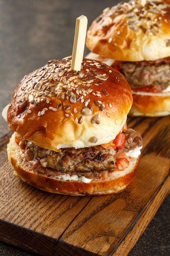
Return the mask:
{"type": "Polygon", "coordinates": [[[170,5],[121,2],[104,9],[87,31],[86,46],[126,77],[132,89],[129,115],[170,114],[170,5]]]}

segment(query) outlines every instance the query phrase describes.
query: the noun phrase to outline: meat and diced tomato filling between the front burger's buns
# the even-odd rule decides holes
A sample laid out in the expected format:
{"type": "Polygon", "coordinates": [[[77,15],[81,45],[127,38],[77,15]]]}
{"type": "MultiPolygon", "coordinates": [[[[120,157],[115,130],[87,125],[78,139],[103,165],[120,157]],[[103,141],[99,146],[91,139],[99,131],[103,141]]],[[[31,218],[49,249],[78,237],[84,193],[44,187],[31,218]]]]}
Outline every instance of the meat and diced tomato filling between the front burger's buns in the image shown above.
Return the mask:
{"type": "MultiPolygon", "coordinates": [[[[55,152],[40,148],[16,134],[22,157],[31,169],[46,175],[77,175],[87,179],[107,177],[108,172],[124,170],[129,165],[129,152],[142,147],[141,135],[132,129],[119,133],[109,144],[88,148],[62,148],[55,152]]],[[[138,155],[137,155],[138,156],[138,155]]]]}

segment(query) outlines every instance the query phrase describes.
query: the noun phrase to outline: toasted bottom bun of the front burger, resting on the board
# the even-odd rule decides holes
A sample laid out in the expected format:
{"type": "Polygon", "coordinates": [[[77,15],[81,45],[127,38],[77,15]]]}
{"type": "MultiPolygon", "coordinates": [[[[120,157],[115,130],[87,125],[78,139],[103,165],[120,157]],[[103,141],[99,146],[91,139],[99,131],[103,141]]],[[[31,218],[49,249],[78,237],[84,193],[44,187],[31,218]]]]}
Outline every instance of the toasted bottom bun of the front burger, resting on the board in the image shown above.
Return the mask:
{"type": "MultiPolygon", "coordinates": [[[[113,171],[107,178],[94,178],[91,182],[80,180],[62,180],[55,175],[35,173],[22,157],[23,153],[15,142],[15,132],[7,145],[8,159],[14,169],[14,175],[22,181],[44,191],[64,195],[104,195],[124,190],[135,177],[139,158],[131,158],[124,171],[113,171]]],[[[76,175],[77,176],[77,175],[76,175]]]]}

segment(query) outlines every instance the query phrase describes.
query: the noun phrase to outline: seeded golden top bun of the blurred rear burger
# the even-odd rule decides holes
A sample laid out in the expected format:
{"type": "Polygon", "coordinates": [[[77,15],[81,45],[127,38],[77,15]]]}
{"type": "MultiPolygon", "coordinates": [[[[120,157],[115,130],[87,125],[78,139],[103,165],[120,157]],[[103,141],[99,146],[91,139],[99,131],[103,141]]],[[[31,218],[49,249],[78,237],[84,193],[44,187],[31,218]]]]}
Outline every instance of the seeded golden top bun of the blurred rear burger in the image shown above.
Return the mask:
{"type": "Polygon", "coordinates": [[[150,61],[170,56],[170,5],[121,2],[104,9],[87,31],[91,52],[118,61],[150,61]]]}

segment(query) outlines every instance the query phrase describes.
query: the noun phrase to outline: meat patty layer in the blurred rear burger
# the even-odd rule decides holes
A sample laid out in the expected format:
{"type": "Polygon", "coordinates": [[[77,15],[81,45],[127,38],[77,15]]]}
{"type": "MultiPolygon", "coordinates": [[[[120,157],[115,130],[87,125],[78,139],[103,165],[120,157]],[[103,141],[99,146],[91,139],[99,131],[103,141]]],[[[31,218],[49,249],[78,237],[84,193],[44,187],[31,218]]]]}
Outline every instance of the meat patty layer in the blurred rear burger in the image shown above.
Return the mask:
{"type": "Polygon", "coordinates": [[[154,86],[155,91],[170,85],[170,58],[156,61],[121,62],[120,69],[131,88],[154,86]]]}

